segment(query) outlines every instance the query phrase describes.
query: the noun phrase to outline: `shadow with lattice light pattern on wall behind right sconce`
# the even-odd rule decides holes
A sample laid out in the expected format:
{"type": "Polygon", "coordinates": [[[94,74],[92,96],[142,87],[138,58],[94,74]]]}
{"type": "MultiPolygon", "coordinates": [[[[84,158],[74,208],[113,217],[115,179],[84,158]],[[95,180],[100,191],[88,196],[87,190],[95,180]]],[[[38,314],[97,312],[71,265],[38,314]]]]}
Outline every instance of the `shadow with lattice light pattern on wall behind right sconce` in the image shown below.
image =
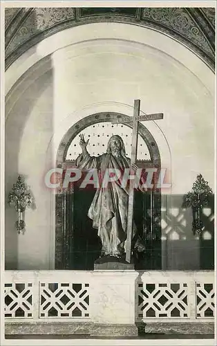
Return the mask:
{"type": "Polygon", "coordinates": [[[183,195],[173,195],[162,219],[162,241],[166,242],[167,269],[214,270],[214,195],[202,209],[202,233],[194,235],[192,210],[182,208],[183,195]]]}

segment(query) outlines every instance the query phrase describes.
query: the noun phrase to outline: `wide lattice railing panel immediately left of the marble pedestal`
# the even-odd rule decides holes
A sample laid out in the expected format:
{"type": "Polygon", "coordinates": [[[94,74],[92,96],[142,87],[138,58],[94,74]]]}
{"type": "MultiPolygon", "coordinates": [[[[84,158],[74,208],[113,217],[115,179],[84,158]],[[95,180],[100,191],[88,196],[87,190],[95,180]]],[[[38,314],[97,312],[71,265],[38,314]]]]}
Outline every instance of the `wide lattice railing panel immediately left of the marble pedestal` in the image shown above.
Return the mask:
{"type": "Polygon", "coordinates": [[[39,318],[89,318],[89,284],[41,283],[39,318]]]}

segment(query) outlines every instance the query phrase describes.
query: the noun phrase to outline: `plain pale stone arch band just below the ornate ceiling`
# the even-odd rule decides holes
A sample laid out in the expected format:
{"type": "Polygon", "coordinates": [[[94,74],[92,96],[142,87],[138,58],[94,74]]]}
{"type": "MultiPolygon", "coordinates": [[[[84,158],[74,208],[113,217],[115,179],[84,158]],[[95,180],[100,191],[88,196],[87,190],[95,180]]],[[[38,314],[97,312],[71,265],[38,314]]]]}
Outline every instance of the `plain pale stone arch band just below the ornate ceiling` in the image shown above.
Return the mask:
{"type": "Polygon", "coordinates": [[[68,28],[50,37],[46,37],[35,46],[32,46],[32,48],[18,57],[7,69],[6,93],[12,89],[15,82],[17,82],[28,69],[41,61],[44,57],[48,57],[55,51],[66,46],[78,44],[79,42],[88,42],[91,39],[93,40],[94,35],[95,40],[102,38],[120,39],[157,48],[159,51],[166,53],[180,62],[191,71],[191,73],[194,73],[194,75],[206,85],[207,89],[214,94],[214,73],[196,54],[191,52],[186,46],[180,44],[180,42],[176,42],[175,39],[171,39],[171,37],[167,37],[167,35],[158,33],[155,30],[142,28],[136,25],[109,23],[109,26],[111,30],[108,30],[108,24],[102,22],[68,28]]]}

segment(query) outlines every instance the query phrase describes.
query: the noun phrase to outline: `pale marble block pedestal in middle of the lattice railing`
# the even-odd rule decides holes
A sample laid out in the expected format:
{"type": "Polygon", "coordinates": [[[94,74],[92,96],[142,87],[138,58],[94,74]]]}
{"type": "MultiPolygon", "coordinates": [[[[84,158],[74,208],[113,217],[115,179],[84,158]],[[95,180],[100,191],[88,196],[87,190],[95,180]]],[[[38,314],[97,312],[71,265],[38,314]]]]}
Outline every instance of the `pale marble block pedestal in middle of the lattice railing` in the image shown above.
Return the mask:
{"type": "MultiPolygon", "coordinates": [[[[115,263],[115,262],[114,262],[115,263]]],[[[135,280],[133,270],[97,270],[91,293],[92,336],[138,336],[135,326],[135,280]]]]}

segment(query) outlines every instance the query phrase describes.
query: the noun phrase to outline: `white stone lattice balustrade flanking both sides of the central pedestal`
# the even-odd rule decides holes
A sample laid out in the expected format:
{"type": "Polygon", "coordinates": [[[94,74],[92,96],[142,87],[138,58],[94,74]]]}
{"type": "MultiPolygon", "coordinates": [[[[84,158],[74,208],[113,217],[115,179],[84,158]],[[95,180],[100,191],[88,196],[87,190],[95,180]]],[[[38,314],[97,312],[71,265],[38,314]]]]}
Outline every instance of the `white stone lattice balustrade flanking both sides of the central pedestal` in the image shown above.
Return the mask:
{"type": "MultiPolygon", "coordinates": [[[[99,284],[94,274],[93,271],[70,271],[70,275],[69,271],[6,271],[6,320],[91,320],[91,294],[99,284]]],[[[214,320],[214,271],[145,271],[138,280],[137,321],[214,320]]]]}

